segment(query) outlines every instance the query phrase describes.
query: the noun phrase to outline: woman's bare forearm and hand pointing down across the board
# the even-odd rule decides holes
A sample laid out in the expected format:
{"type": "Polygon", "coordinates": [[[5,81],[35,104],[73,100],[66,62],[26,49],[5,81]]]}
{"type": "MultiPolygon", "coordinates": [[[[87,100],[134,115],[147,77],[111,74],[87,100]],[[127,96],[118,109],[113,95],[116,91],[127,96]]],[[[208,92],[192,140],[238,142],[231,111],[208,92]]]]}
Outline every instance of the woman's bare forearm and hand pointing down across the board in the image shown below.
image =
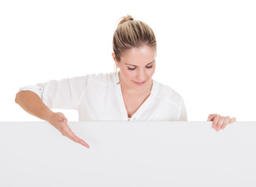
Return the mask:
{"type": "Polygon", "coordinates": [[[74,142],[89,148],[88,144],[85,143],[83,139],[78,138],[78,136],[75,136],[74,132],[71,131],[67,125],[67,118],[60,112],[51,111],[34,92],[20,91],[16,94],[15,102],[29,114],[49,122],[58,129],[63,136],[67,136],[74,142]]]}

